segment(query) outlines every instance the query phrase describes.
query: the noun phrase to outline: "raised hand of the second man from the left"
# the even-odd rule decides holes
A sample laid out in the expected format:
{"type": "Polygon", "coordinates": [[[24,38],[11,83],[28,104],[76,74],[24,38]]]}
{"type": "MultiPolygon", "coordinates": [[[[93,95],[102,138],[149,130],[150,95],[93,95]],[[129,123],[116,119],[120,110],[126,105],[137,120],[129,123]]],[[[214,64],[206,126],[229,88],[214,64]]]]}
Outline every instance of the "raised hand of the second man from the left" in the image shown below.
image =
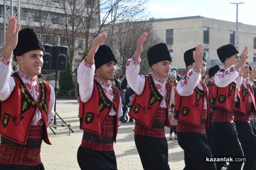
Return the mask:
{"type": "Polygon", "coordinates": [[[91,43],[90,50],[86,57],[87,63],[89,63],[89,64],[93,63],[93,58],[99,48],[99,45],[101,45],[106,39],[107,39],[107,34],[102,34],[102,35],[98,34],[98,36],[93,39],[93,41],[91,43]]]}

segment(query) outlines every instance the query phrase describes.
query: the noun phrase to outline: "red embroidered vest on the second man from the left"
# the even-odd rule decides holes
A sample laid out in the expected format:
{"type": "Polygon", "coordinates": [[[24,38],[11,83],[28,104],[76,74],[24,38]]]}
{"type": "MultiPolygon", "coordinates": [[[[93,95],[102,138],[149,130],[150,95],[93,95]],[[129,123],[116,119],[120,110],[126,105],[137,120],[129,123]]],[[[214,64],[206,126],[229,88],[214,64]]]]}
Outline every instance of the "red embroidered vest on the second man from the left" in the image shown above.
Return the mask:
{"type": "MultiPolygon", "coordinates": [[[[91,133],[95,133],[102,139],[102,125],[109,116],[111,109],[116,112],[116,134],[118,130],[118,110],[120,103],[119,90],[112,86],[114,94],[114,102],[105,95],[102,86],[94,80],[93,94],[89,101],[79,102],[79,119],[80,129],[91,133]]],[[[114,141],[116,142],[116,134],[114,141]]]]}

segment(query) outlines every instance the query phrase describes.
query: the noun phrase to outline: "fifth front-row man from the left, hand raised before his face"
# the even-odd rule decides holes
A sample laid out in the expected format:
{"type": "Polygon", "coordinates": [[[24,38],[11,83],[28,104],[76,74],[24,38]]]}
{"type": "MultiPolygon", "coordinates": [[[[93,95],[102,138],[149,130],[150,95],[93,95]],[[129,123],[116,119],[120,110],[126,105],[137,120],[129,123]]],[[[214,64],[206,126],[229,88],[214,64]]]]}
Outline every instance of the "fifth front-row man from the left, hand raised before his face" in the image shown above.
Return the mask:
{"type": "MultiPolygon", "coordinates": [[[[237,138],[236,125],[233,122],[233,111],[241,108],[238,87],[242,83],[239,76],[240,67],[248,58],[246,46],[239,58],[239,52],[232,44],[217,49],[217,54],[224,67],[214,77],[212,88],[212,156],[215,158],[244,157],[241,144],[237,138]]],[[[221,170],[225,162],[216,162],[216,169],[221,170]]],[[[243,162],[230,161],[228,168],[241,170],[243,162]]]]}

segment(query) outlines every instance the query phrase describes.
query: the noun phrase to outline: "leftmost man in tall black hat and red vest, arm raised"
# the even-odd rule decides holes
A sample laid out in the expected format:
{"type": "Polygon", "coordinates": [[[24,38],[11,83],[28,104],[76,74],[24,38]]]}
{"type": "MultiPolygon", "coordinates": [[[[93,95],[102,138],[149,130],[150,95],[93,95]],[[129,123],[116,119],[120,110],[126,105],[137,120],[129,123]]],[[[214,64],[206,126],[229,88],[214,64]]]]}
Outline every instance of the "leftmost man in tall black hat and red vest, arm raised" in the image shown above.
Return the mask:
{"type": "Polygon", "coordinates": [[[38,79],[44,62],[42,43],[34,29],[19,29],[11,17],[0,56],[0,170],[44,170],[40,151],[42,140],[51,144],[47,127],[55,115],[55,93],[38,79]],[[12,52],[19,65],[14,74],[12,52]]]}

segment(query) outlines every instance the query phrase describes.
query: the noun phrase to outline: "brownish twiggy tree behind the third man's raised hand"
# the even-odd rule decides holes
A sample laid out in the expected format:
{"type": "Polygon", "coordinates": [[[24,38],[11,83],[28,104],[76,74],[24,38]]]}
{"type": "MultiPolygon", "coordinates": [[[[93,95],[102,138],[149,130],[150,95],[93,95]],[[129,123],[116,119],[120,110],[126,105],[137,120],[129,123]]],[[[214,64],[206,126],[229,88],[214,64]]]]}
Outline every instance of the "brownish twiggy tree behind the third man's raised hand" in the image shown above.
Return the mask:
{"type": "MultiPolygon", "coordinates": [[[[140,63],[140,74],[148,74],[151,68],[148,65],[147,50],[152,45],[163,42],[157,37],[154,31],[153,23],[148,21],[136,21],[119,23],[115,26],[115,36],[112,37],[113,51],[117,55],[117,65],[125,73],[126,62],[134,55],[136,50],[137,39],[144,32],[148,33],[147,40],[143,44],[143,52],[140,55],[142,62],[140,63]]],[[[110,44],[111,40],[107,39],[106,44],[110,44]]]]}

